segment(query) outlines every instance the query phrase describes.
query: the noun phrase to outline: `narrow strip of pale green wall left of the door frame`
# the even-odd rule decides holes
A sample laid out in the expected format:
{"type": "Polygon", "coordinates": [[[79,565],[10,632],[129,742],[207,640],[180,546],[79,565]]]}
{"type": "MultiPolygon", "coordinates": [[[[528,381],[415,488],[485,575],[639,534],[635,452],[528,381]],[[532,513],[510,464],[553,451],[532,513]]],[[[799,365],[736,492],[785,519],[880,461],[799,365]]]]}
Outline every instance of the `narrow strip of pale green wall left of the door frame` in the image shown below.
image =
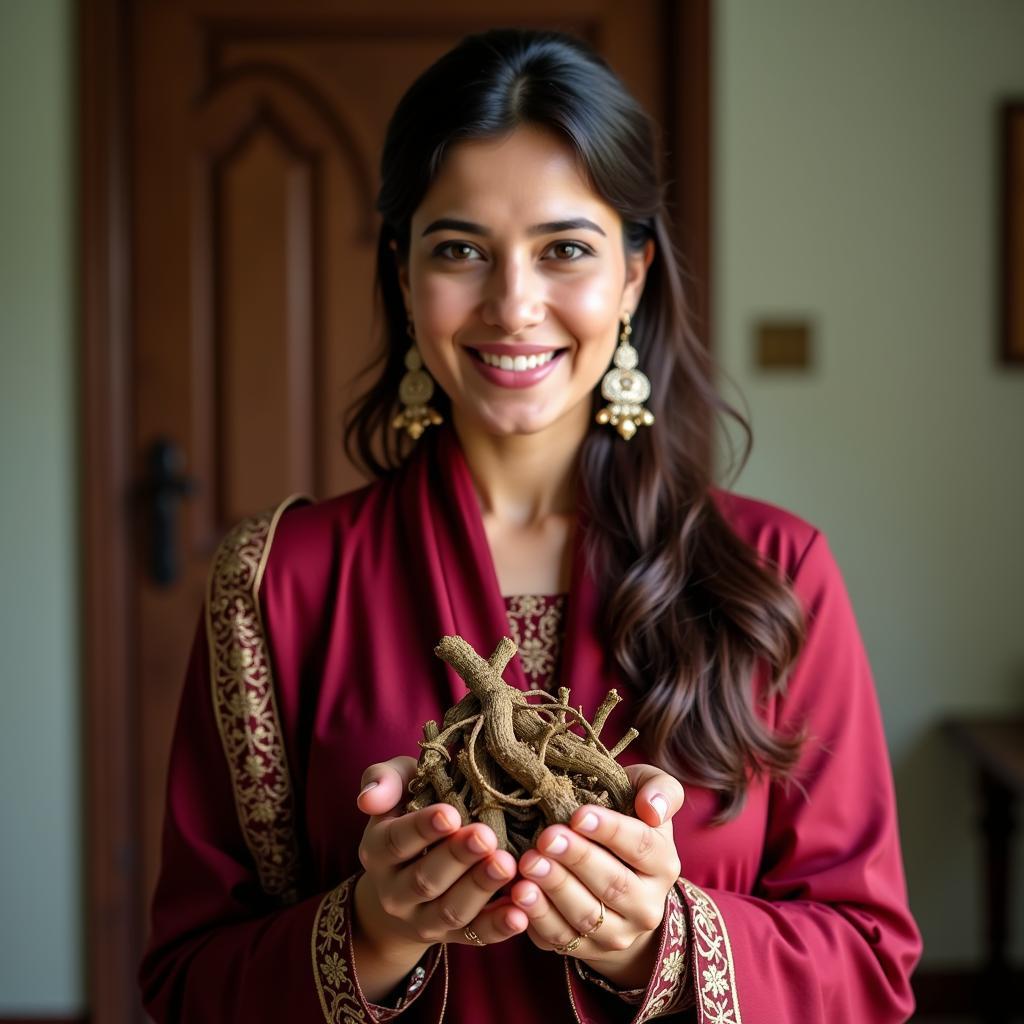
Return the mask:
{"type": "Polygon", "coordinates": [[[0,1015],[84,1007],[71,32],[0,0],[0,1015]]]}

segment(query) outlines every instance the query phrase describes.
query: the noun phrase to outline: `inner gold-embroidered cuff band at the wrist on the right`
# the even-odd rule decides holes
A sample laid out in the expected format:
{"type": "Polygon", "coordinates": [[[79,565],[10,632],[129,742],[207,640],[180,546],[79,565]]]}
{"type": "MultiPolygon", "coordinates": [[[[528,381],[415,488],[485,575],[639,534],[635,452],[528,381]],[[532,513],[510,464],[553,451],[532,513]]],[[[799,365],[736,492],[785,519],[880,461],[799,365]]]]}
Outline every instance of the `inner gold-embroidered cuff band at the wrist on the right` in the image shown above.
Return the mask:
{"type": "Polygon", "coordinates": [[[584,1024],[601,1019],[599,1011],[588,1012],[589,1005],[594,1001],[588,993],[591,985],[613,992],[622,1002],[635,1006],[636,1013],[631,1018],[631,1024],[643,1024],[644,1021],[679,1013],[692,1006],[692,986],[688,984],[687,971],[687,905],[680,889],[673,886],[666,898],[660,946],[646,989],[618,989],[599,975],[595,976],[585,965],[579,971],[571,969],[569,957],[566,957],[565,978],[578,1019],[584,1024]],[[586,978],[586,983],[581,981],[581,976],[586,978]]]}

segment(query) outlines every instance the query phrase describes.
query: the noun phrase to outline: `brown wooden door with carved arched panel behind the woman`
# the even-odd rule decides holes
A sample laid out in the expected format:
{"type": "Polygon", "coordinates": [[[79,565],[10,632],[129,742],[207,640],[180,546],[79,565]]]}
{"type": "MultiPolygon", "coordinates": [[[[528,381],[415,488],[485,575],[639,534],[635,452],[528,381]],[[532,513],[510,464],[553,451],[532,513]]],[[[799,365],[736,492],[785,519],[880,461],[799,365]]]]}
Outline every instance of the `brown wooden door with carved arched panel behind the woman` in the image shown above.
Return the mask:
{"type": "MultiPolygon", "coordinates": [[[[158,583],[140,558],[129,594],[136,943],[159,866],[169,737],[216,543],[238,518],[291,493],[324,497],[360,482],[342,452],[342,412],[373,348],[377,161],[395,102],[463,35],[515,24],[592,41],[664,123],[678,115],[667,67],[672,6],[127,6],[131,456],[139,476],[160,439],[181,457],[164,481],[162,527],[176,537],[179,572],[158,583]],[[175,521],[182,472],[193,489],[175,521]]],[[[141,511],[154,515],[145,503],[141,511]]]]}

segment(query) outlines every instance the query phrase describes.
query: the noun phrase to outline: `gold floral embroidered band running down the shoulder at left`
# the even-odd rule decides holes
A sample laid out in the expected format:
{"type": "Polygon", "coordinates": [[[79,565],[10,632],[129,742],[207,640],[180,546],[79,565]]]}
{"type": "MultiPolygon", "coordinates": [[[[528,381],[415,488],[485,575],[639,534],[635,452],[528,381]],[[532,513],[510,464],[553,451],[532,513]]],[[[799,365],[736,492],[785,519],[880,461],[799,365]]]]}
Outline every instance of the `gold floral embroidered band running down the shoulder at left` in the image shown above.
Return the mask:
{"type": "Polygon", "coordinates": [[[298,898],[292,780],[273,692],[259,587],[278,522],[298,501],[243,519],[221,541],[207,588],[213,711],[231,775],[234,806],[264,892],[298,898]]]}

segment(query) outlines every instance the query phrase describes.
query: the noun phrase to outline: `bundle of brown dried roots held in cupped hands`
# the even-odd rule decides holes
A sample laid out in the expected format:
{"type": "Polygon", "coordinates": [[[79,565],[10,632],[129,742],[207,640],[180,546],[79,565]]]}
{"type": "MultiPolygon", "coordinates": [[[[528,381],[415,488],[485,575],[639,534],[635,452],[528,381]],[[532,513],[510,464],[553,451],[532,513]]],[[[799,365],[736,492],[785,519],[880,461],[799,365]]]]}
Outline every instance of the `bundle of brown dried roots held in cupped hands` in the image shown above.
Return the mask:
{"type": "Polygon", "coordinates": [[[601,742],[601,729],[622,700],[615,690],[588,722],[582,707],[569,707],[564,686],[557,700],[544,690],[509,686],[502,673],[516,650],[508,637],[487,660],[462,637],[443,637],[434,648],[469,692],[440,728],[424,725],[406,809],[451,804],[464,825],[482,821],[501,849],[519,856],[547,825],[567,822],[584,804],[633,813],[633,790],[615,758],[638,733],[630,729],[610,750],[601,742]]]}

